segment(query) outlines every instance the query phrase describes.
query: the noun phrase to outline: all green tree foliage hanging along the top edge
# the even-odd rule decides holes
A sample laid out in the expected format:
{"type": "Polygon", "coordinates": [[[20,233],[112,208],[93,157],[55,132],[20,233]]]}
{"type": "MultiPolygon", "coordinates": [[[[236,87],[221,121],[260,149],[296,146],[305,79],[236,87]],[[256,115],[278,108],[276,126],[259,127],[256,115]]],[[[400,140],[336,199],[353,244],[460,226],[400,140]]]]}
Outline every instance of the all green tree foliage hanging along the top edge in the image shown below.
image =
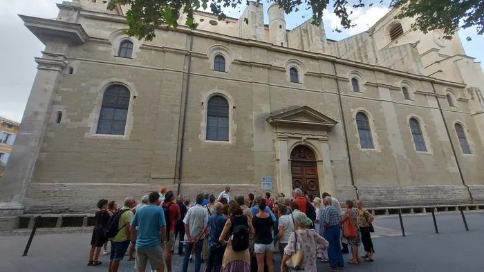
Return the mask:
{"type": "MultiPolygon", "coordinates": [[[[353,10],[373,6],[373,0],[266,0],[268,3],[278,3],[286,14],[301,9],[308,10],[312,23],[319,25],[323,20],[324,10],[331,8],[339,17],[342,28],[355,26],[350,19],[353,10]]],[[[374,0],[379,1],[379,0],[374,0]]],[[[382,4],[384,0],[380,0],[382,4]]],[[[194,10],[210,10],[219,20],[227,17],[225,8],[238,8],[248,5],[249,0],[109,0],[108,8],[113,10],[117,4],[129,5],[126,18],[129,29],[126,34],[138,39],[151,40],[155,30],[160,26],[178,26],[181,13],[186,14],[185,25],[195,29],[198,22],[194,19],[194,10]]],[[[259,3],[259,0],[257,0],[259,3]]],[[[483,34],[483,1],[482,0],[391,0],[392,8],[400,8],[398,18],[416,17],[414,29],[429,32],[443,29],[449,39],[463,19],[463,28],[478,26],[478,34],[483,34]]],[[[248,23],[248,20],[244,18],[248,23]]],[[[340,32],[340,30],[336,29],[340,32]]]]}

